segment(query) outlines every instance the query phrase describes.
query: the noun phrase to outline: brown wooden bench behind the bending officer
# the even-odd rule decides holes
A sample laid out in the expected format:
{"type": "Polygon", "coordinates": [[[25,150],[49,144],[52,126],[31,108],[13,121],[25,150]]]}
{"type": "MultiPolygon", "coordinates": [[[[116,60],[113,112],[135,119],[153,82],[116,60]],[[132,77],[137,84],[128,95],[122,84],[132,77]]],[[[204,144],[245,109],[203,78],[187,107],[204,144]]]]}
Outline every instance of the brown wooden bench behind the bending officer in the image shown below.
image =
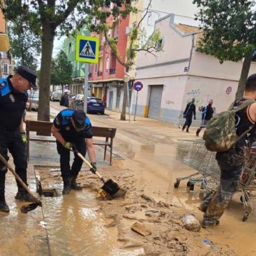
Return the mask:
{"type": "MultiPolygon", "coordinates": [[[[30,132],[51,134],[51,127],[52,127],[52,122],[31,121],[31,120],[26,121],[28,160],[29,160],[29,155],[30,155],[29,154],[29,147],[30,147],[29,142],[30,141],[48,141],[48,142],[56,141],[54,136],[32,135],[30,132]]],[[[116,135],[116,128],[93,126],[92,130],[93,130],[93,137],[105,138],[105,141],[93,139],[93,144],[104,146],[104,160],[106,158],[106,148],[108,146],[110,147],[110,165],[112,165],[113,140],[116,135]]]]}

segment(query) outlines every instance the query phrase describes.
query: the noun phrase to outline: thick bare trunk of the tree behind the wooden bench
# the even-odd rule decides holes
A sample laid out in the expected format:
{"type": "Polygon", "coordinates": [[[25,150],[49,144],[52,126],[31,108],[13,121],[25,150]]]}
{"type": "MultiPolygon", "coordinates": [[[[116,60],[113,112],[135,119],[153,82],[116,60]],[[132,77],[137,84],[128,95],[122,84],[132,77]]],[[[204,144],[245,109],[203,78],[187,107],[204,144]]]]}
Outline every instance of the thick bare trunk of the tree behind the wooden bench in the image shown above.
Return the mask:
{"type": "Polygon", "coordinates": [[[40,67],[39,106],[37,120],[50,121],[50,75],[54,29],[48,24],[42,24],[42,57],[40,67]]]}

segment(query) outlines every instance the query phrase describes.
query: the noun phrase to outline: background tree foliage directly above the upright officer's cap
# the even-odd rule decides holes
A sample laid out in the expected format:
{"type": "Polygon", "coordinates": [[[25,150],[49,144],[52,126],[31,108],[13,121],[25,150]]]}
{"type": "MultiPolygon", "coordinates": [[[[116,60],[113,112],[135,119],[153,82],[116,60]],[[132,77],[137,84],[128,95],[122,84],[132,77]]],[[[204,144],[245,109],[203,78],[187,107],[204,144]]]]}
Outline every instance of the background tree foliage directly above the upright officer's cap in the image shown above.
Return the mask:
{"type": "Polygon", "coordinates": [[[41,52],[41,37],[31,32],[28,24],[22,21],[19,23],[10,22],[8,34],[15,67],[26,65],[36,70],[41,52]]]}

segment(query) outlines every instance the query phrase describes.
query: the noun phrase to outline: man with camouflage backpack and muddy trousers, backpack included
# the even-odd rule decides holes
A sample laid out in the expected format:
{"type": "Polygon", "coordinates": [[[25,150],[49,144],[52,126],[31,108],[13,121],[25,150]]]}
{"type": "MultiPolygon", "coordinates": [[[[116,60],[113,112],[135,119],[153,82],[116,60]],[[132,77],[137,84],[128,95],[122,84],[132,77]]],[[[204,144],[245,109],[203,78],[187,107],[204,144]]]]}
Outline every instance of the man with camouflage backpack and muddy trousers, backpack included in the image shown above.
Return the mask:
{"type": "Polygon", "coordinates": [[[220,186],[205,198],[199,209],[205,212],[203,227],[215,226],[237,190],[245,160],[255,141],[256,74],[245,83],[243,98],[234,101],[229,111],[212,118],[203,139],[207,150],[215,151],[221,170],[220,186]]]}

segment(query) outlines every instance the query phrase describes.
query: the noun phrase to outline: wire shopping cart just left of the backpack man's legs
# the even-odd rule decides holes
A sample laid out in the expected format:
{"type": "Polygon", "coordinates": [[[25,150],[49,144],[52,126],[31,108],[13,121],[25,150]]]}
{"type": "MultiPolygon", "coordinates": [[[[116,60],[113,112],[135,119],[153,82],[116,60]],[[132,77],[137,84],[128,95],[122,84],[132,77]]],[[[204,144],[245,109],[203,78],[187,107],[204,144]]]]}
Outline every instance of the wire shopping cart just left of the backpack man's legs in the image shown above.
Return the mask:
{"type": "Polygon", "coordinates": [[[185,163],[197,172],[186,177],[176,178],[174,187],[179,187],[180,181],[188,180],[189,190],[194,190],[195,185],[209,192],[215,190],[220,182],[220,169],[215,155],[215,152],[206,150],[202,139],[178,140],[176,160],[185,163]]]}

